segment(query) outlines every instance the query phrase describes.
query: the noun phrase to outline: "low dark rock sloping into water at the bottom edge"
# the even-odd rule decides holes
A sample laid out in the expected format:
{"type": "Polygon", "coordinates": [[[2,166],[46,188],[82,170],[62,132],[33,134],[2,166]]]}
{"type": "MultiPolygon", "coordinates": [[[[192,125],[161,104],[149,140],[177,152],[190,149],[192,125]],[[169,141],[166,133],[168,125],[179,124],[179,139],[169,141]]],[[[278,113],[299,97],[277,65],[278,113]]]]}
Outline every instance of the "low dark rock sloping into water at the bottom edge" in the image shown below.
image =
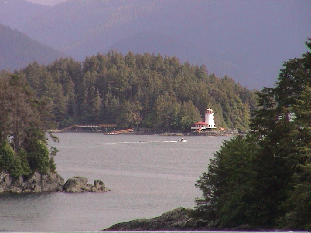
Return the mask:
{"type": "Polygon", "coordinates": [[[191,211],[180,207],[160,217],[122,222],[102,231],[203,231],[210,228],[206,220],[190,217],[191,211]]]}

